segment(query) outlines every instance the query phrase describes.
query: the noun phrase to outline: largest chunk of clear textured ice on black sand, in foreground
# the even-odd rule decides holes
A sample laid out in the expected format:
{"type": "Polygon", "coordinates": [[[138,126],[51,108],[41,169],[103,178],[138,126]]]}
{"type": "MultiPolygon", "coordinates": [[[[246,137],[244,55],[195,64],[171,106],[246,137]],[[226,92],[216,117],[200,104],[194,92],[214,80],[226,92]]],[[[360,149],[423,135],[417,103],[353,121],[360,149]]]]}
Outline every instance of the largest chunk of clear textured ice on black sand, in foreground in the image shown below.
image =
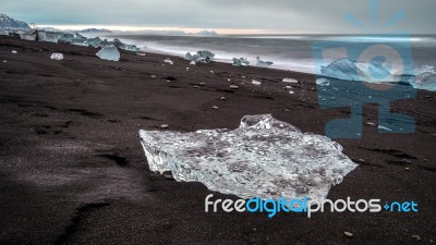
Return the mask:
{"type": "Polygon", "coordinates": [[[140,136],[152,171],[242,198],[325,198],[358,167],[339,144],[270,114],[245,115],[233,131],[142,130],[140,136]]]}

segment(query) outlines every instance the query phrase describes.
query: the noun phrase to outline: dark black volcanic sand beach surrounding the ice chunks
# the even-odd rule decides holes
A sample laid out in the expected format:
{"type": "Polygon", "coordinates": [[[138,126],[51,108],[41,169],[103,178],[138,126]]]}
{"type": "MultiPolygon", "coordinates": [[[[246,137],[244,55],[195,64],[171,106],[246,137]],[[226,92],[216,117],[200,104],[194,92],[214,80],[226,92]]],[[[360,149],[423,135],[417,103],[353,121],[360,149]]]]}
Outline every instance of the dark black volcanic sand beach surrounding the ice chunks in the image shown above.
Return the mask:
{"type": "MultiPolygon", "coordinates": [[[[313,75],[217,62],[189,65],[175,57],[171,65],[164,62],[168,56],[153,53],[122,52],[120,62],[111,62],[96,51],[0,38],[1,244],[436,241],[435,93],[420,90],[391,105],[415,119],[413,134],[378,134],[366,124],[377,123],[377,107],[366,106],[363,137],[337,140],[359,167],[328,195],[414,200],[419,212],[325,212],[311,219],[205,213],[210,192],[150,172],[138,130],[235,128],[245,114],[271,113],[303,132],[324,134],[325,123],[349,115],[349,108],[319,109],[313,75]],[[50,60],[52,52],[65,59],[50,60]],[[283,89],[289,85],[283,77],[299,79],[291,84],[294,95],[283,89]],[[239,89],[229,88],[232,84],[239,89]]],[[[215,193],[215,198],[237,197],[215,193]]]]}

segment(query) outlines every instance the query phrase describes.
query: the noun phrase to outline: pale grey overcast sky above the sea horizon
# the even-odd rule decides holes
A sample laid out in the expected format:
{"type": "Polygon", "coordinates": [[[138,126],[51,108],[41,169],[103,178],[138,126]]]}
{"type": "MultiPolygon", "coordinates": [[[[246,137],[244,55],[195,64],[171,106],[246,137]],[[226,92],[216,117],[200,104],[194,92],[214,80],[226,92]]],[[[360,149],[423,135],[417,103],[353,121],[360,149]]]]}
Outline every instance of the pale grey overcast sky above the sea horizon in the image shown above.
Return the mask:
{"type": "Polygon", "coordinates": [[[436,34],[436,0],[0,0],[0,12],[39,26],[133,26],[270,33],[436,34]],[[389,26],[398,11],[405,15],[389,26]],[[350,13],[358,23],[347,21],[350,13]],[[373,17],[371,17],[373,16],[373,17]],[[373,25],[373,20],[377,24],[373,25]],[[229,30],[230,29],[230,30],[229,30]]]}

